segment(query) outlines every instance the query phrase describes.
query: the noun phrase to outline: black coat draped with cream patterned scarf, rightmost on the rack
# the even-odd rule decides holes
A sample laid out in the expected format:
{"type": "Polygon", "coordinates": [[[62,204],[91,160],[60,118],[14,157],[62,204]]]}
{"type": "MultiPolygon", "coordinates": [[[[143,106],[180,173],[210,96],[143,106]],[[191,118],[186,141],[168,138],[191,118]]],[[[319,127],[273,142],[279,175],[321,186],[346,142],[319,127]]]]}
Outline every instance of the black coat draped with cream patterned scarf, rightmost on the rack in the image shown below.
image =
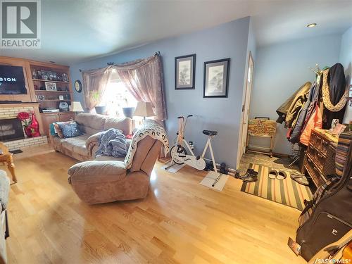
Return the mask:
{"type": "Polygon", "coordinates": [[[325,92],[323,93],[324,108],[322,111],[322,128],[328,130],[331,127],[333,119],[339,119],[341,123],[344,119],[347,104],[344,66],[342,66],[341,63],[336,63],[329,68],[329,70],[324,71],[322,78],[322,89],[325,89],[325,91],[322,91],[325,92]],[[329,96],[325,95],[326,97],[324,98],[324,94],[327,93],[329,96]],[[329,105],[327,103],[329,103],[329,105]]]}

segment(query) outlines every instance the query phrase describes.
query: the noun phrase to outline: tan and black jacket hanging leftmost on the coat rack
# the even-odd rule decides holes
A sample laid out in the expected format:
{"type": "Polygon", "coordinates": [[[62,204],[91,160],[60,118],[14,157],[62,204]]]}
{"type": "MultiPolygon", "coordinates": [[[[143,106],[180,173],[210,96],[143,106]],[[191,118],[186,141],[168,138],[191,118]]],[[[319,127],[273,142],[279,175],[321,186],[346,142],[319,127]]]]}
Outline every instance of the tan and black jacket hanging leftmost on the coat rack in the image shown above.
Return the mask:
{"type": "Polygon", "coordinates": [[[298,114],[301,112],[301,109],[304,103],[307,101],[308,92],[310,91],[311,82],[306,82],[301,86],[299,92],[296,94],[294,100],[287,110],[285,127],[292,127],[292,123],[295,125],[298,114]]]}

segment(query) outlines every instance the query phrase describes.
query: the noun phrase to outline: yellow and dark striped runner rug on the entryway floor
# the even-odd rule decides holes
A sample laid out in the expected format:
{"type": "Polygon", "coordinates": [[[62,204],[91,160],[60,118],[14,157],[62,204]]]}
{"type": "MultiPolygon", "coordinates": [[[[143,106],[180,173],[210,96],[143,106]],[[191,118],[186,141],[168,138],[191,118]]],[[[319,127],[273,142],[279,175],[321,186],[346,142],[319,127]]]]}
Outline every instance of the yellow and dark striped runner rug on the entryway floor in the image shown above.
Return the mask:
{"type": "Polygon", "coordinates": [[[247,194],[253,194],[259,197],[263,197],[270,201],[281,203],[285,206],[297,208],[303,210],[304,199],[310,201],[312,199],[312,193],[308,186],[298,184],[294,180],[291,180],[290,172],[287,172],[287,177],[284,180],[272,180],[268,177],[268,174],[272,168],[250,164],[249,168],[253,168],[258,171],[258,180],[256,182],[244,182],[241,187],[241,191],[247,194]]]}

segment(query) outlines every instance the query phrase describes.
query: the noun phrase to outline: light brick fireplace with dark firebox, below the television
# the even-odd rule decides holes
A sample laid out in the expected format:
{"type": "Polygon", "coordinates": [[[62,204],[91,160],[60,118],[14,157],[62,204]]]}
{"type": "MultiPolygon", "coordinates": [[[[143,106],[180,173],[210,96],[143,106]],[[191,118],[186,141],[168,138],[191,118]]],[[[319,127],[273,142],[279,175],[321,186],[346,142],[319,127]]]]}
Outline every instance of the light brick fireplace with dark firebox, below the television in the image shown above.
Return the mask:
{"type": "Polygon", "coordinates": [[[0,141],[4,142],[10,151],[48,143],[46,136],[25,136],[23,126],[17,119],[20,112],[34,112],[39,117],[38,103],[0,104],[0,141]]]}

